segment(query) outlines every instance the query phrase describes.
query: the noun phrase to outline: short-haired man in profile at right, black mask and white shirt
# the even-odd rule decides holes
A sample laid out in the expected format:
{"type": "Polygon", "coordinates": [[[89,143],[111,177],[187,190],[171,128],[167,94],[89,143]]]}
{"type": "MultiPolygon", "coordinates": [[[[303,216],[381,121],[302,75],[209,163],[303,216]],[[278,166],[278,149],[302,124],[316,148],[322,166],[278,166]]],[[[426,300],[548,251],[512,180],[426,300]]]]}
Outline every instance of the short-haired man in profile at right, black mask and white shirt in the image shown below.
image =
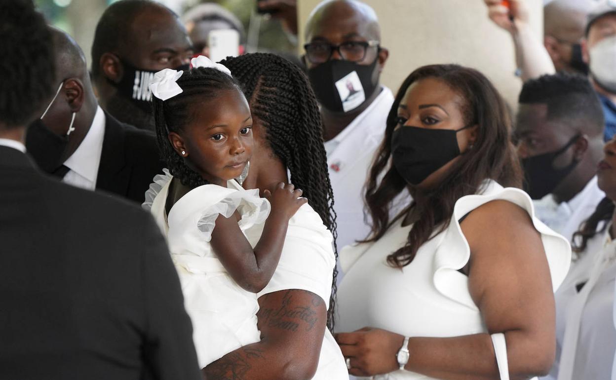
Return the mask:
{"type": "Polygon", "coordinates": [[[605,194],[597,164],[603,157],[603,112],[583,76],[544,75],[524,84],[516,139],[541,221],[571,241],[605,194]]]}

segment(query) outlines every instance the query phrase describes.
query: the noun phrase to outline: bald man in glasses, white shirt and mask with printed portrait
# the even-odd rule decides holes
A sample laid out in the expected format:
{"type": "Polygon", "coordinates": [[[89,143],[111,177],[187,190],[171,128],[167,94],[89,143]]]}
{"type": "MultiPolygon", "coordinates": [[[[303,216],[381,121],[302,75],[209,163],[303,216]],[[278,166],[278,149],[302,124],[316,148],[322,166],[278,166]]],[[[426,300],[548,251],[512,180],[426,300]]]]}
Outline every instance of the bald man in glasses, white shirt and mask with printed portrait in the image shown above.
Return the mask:
{"type": "Polygon", "coordinates": [[[321,106],[342,248],[370,233],[363,187],[394,102],[379,84],[389,52],[380,46],[375,11],[355,0],[319,4],[309,17],[306,41],[304,61],[321,106]]]}

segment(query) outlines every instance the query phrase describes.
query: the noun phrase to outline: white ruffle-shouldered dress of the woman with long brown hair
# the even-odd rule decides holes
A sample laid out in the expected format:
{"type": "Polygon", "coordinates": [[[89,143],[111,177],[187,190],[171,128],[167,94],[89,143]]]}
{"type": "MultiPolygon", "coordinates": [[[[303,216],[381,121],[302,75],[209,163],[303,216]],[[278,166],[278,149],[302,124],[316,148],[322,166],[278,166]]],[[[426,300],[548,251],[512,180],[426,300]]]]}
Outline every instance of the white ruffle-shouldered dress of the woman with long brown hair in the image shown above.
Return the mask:
{"type": "MultiPolygon", "coordinates": [[[[418,250],[411,264],[402,270],[387,265],[387,256],[406,245],[411,226],[392,225],[374,243],[342,249],[345,271],[338,288],[338,331],[355,331],[365,326],[382,328],[404,336],[446,338],[487,333],[481,313],[468,291],[468,277],[458,272],[469,260],[470,249],[458,220],[492,200],[507,200],[525,209],[541,233],[554,291],[569,270],[571,250],[561,235],[535,218],[530,197],[517,188],[503,188],[493,180],[484,182],[480,195],[456,201],[447,229],[418,250]]],[[[495,334],[496,335],[496,334],[495,334]]],[[[495,339],[501,379],[508,379],[504,339],[495,339]],[[504,357],[503,357],[504,355],[504,357]]],[[[388,380],[429,380],[423,374],[397,370],[375,376],[388,380]]]]}

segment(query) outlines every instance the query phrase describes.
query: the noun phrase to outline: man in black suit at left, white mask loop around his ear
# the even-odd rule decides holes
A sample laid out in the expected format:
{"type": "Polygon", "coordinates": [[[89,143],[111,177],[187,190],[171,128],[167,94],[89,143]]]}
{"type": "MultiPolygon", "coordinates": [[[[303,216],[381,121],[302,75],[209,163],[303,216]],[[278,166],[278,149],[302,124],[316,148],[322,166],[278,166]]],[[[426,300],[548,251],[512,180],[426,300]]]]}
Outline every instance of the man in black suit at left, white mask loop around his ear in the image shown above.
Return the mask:
{"type": "Polygon", "coordinates": [[[120,123],[99,107],[81,48],[52,28],[57,93],[26,134],[26,148],[44,171],[63,182],[142,203],[162,172],[156,137],[120,123]]]}

